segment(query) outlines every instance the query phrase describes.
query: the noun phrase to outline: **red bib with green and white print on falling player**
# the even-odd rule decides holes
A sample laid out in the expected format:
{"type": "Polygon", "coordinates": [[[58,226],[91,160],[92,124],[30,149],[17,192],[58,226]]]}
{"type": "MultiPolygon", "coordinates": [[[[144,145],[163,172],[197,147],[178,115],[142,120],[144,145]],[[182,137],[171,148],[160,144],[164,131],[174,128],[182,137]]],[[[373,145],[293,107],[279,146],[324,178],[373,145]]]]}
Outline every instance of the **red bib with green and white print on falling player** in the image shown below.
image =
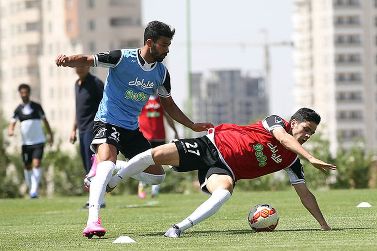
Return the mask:
{"type": "Polygon", "coordinates": [[[221,124],[215,127],[215,144],[233,171],[235,181],[273,173],[296,161],[297,154],[271,134],[277,127],[288,131],[290,123],[272,115],[248,126],[221,124]]]}

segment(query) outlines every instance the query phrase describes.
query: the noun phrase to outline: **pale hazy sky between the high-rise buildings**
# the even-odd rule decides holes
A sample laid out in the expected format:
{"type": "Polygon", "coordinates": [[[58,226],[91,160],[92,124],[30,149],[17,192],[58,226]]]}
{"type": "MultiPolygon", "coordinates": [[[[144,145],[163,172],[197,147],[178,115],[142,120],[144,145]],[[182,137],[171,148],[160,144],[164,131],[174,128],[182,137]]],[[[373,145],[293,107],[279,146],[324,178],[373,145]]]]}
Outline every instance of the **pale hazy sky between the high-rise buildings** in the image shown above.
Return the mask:
{"type": "MultiPolygon", "coordinates": [[[[165,63],[172,97],[182,110],[187,99],[186,4],[186,0],[142,0],[144,25],[159,20],[176,28],[165,63]]],[[[261,30],[267,30],[271,43],[292,40],[291,0],[191,0],[190,6],[192,72],[241,69],[261,76],[265,62],[261,30]]],[[[270,47],[270,113],[287,119],[293,112],[292,52],[291,46],[270,47]]]]}

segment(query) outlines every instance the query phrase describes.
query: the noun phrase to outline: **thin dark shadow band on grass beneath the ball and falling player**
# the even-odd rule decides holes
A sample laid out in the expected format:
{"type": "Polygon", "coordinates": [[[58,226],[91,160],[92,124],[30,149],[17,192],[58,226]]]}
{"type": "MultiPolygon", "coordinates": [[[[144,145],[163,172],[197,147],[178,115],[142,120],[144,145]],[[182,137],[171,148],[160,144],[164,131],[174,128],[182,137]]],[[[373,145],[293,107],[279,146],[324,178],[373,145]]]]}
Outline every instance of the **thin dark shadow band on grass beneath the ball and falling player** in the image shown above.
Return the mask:
{"type": "MultiPolygon", "coordinates": [[[[355,228],[333,228],[332,231],[344,231],[344,230],[361,230],[361,229],[377,229],[377,227],[355,227],[355,228]]],[[[313,229],[286,229],[286,230],[274,230],[271,233],[276,232],[305,232],[305,231],[322,231],[318,228],[313,229]]],[[[164,232],[154,232],[154,233],[143,233],[143,232],[134,232],[134,233],[122,233],[122,234],[136,234],[139,236],[163,236],[164,232]]],[[[230,230],[208,230],[208,231],[188,231],[185,234],[196,234],[196,235],[206,235],[206,234],[258,234],[254,233],[252,230],[246,229],[230,229],[230,230]]]]}

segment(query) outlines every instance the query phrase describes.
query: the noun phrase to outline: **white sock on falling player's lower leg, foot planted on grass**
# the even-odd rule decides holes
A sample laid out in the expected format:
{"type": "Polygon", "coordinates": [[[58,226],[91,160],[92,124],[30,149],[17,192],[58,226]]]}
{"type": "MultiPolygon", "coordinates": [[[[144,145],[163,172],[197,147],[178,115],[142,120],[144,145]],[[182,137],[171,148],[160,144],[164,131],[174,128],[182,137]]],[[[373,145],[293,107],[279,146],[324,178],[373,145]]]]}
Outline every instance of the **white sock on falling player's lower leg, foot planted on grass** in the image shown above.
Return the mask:
{"type": "Polygon", "coordinates": [[[213,191],[210,198],[203,202],[195,211],[186,219],[175,224],[182,231],[189,227],[193,227],[201,221],[210,218],[216,213],[220,207],[230,198],[230,192],[226,189],[216,189],[213,191]]]}

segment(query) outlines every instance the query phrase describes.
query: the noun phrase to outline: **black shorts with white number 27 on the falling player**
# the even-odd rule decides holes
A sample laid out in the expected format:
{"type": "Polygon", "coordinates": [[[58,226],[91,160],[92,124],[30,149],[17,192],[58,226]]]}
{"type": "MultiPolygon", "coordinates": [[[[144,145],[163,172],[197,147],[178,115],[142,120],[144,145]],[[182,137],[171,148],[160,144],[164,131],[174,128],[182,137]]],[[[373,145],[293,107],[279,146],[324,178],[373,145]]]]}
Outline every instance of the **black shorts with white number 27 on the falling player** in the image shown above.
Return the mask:
{"type": "MultiPolygon", "coordinates": [[[[200,187],[204,193],[210,194],[207,189],[207,179],[212,174],[224,174],[230,176],[231,171],[222,163],[216,147],[207,138],[183,138],[174,140],[179,154],[179,167],[171,167],[176,172],[189,172],[198,170],[200,187]]],[[[235,186],[233,182],[233,186],[235,186]]]]}

